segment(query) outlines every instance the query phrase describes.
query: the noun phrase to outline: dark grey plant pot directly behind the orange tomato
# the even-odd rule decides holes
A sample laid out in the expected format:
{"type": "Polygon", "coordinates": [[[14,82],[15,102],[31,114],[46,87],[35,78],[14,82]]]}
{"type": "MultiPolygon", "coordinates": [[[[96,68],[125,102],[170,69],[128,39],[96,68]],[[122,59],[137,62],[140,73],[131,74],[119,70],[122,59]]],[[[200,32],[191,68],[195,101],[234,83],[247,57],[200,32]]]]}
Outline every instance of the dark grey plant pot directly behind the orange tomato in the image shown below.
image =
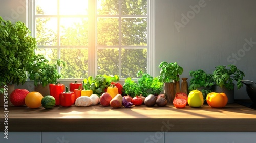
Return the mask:
{"type": "MultiPolygon", "coordinates": [[[[233,84],[233,86],[234,86],[234,84],[233,84]]],[[[225,87],[221,88],[217,85],[214,85],[212,90],[213,90],[213,92],[217,92],[217,93],[225,93],[228,98],[227,103],[234,103],[234,88],[233,88],[233,90],[228,90],[225,87]]]]}

